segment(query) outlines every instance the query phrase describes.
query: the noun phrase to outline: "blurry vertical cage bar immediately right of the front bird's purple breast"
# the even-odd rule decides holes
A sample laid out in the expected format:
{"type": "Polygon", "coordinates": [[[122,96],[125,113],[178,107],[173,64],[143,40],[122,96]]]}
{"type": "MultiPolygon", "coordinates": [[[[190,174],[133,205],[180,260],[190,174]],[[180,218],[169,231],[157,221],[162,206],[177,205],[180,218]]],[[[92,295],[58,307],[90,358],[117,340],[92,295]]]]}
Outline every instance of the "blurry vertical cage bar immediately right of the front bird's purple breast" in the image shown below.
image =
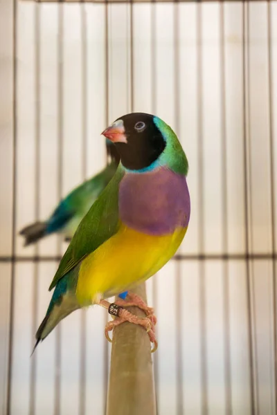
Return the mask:
{"type": "MultiPolygon", "coordinates": [[[[203,104],[202,104],[202,2],[197,4],[197,124],[198,124],[198,205],[199,205],[199,252],[204,252],[204,182],[203,182],[203,104]]],[[[206,351],[206,284],[204,261],[199,262],[199,308],[201,338],[201,387],[202,415],[208,414],[207,351],[206,351]]]]}

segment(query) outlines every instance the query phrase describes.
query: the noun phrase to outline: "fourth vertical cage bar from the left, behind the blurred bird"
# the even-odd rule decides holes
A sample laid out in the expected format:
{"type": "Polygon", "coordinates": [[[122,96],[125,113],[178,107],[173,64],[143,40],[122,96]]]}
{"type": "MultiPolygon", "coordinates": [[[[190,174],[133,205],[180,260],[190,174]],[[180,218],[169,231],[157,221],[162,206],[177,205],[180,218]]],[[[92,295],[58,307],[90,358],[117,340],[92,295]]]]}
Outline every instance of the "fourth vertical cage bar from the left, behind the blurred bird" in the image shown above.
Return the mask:
{"type": "MultiPolygon", "coordinates": [[[[82,59],[82,181],[87,176],[87,14],[84,2],[80,4],[81,21],[81,59],[82,59]]],[[[84,415],[86,410],[86,360],[87,360],[87,311],[81,310],[81,335],[80,335],[80,407],[79,414],[84,415]]]]}

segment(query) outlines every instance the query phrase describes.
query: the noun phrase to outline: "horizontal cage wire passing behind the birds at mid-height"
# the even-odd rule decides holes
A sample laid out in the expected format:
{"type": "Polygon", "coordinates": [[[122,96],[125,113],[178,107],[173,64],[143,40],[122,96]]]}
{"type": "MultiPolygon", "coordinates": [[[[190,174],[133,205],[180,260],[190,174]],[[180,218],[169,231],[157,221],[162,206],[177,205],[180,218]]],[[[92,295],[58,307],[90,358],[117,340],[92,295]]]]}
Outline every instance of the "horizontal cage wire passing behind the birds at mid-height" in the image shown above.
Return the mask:
{"type": "MultiPolygon", "coordinates": [[[[33,257],[22,257],[22,256],[0,256],[0,262],[51,262],[51,261],[60,261],[62,259],[61,256],[33,256],[33,257]]],[[[172,257],[174,261],[183,261],[183,260],[189,260],[189,261],[234,261],[234,260],[251,260],[251,259],[262,259],[262,260],[273,260],[277,259],[277,252],[274,253],[262,253],[257,252],[255,254],[240,254],[240,253],[234,253],[234,254],[178,254],[175,255],[175,257],[172,257]]]]}

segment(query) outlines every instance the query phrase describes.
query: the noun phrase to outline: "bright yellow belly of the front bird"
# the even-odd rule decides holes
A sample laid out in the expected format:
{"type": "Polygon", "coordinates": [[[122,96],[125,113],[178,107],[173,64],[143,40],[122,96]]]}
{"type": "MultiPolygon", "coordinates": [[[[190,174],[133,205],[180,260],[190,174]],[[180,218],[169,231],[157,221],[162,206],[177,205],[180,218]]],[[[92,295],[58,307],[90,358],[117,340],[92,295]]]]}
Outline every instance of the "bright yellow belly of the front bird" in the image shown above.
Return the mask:
{"type": "Polygon", "coordinates": [[[175,254],[185,234],[186,228],[179,228],[159,237],[120,225],[113,237],[82,261],[78,302],[91,304],[97,297],[111,297],[152,277],[175,254]]]}

